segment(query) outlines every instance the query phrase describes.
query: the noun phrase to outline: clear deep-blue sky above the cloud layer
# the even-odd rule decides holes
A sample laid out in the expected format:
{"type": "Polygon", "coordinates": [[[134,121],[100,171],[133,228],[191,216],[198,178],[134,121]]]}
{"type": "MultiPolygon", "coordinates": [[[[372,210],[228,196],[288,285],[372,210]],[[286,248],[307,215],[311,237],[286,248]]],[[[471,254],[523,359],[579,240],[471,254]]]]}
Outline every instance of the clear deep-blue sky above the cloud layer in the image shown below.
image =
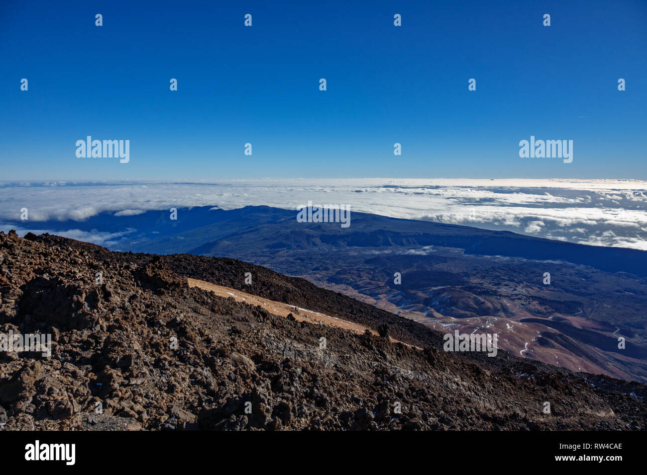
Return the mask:
{"type": "Polygon", "coordinates": [[[0,180],[647,179],[647,1],[300,3],[3,0],[0,180]]]}

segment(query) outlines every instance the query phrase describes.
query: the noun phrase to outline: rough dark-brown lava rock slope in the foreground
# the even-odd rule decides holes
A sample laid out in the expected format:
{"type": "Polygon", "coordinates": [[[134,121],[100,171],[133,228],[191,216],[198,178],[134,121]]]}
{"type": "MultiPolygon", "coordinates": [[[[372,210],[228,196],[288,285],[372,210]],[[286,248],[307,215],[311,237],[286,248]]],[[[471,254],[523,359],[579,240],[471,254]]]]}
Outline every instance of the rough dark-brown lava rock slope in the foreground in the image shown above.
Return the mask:
{"type": "Polygon", "coordinates": [[[49,333],[52,355],[0,352],[5,430],[644,430],[647,419],[640,383],[501,350],[446,353],[420,324],[232,259],[0,233],[0,333],[9,332],[49,333]],[[272,315],[188,278],[382,336],[272,315]]]}

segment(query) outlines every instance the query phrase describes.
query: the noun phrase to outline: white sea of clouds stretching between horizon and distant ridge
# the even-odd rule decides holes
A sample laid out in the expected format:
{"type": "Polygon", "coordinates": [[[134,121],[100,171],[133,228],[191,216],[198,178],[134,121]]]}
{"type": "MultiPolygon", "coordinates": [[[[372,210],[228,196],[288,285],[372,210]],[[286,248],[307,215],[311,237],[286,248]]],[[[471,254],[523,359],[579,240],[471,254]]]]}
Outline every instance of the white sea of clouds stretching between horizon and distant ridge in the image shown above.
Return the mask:
{"type": "MultiPolygon", "coordinates": [[[[151,209],[267,205],[296,209],[343,204],[396,218],[430,220],[596,246],[647,250],[647,182],[639,180],[260,179],[222,182],[0,183],[0,230],[31,224],[82,221],[102,211],[133,216],[151,209]]],[[[296,213],[295,213],[296,216],[296,213]]],[[[106,244],[114,229],[57,234],[106,244]]]]}

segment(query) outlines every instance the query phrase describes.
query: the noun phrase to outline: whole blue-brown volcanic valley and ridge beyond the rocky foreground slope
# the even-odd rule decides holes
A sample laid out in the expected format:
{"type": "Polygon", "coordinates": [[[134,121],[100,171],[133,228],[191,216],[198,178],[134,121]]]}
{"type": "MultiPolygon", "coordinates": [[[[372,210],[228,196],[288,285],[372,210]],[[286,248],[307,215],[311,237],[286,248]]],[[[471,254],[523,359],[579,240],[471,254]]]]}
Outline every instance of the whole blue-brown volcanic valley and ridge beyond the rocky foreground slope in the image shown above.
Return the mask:
{"type": "Polygon", "coordinates": [[[167,215],[97,216],[83,229],[123,231],[113,250],[252,262],[435,330],[488,328],[525,359],[647,383],[647,251],[355,212],[347,228],[264,206],[167,215]]]}

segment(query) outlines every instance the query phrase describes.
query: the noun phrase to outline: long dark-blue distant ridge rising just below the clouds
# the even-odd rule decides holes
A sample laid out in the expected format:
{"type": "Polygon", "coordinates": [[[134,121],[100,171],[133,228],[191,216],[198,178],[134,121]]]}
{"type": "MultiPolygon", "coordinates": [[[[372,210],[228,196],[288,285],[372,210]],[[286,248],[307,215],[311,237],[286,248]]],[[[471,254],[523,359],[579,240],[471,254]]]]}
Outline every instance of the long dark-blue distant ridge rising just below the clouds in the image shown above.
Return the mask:
{"type": "Polygon", "coordinates": [[[465,249],[466,254],[472,255],[564,260],[603,271],[647,277],[647,251],[639,249],[587,246],[510,231],[388,218],[357,211],[353,211],[352,226],[342,228],[331,223],[300,223],[295,219],[297,213],[269,206],[231,210],[200,206],[179,208],[175,221],[169,220],[169,211],[165,209],[137,216],[100,213],[84,222],[50,221],[44,226],[43,222],[21,221],[20,225],[54,232],[67,229],[123,232],[124,237],[116,244],[103,244],[120,251],[222,255],[232,246],[237,250],[311,248],[317,242],[344,248],[443,246],[465,249]],[[304,230],[307,238],[303,238],[304,230]]]}

